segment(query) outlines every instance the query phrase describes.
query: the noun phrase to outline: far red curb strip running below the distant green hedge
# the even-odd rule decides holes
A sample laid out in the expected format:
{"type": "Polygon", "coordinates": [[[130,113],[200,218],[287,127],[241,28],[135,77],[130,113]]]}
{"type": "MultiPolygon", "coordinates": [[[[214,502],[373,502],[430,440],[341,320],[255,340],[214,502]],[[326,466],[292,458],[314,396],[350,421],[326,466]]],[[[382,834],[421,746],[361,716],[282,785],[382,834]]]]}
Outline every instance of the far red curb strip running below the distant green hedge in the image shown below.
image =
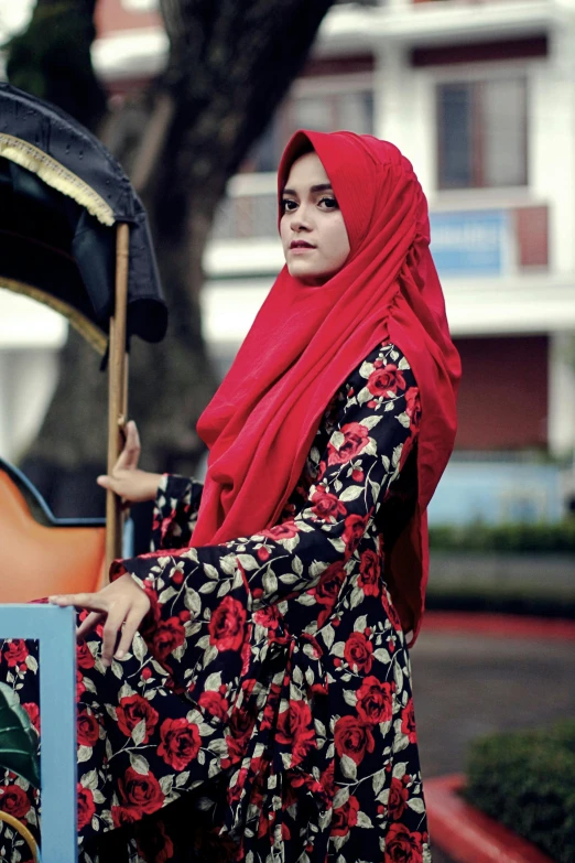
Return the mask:
{"type": "Polygon", "coordinates": [[[425,612],[422,632],[478,633],[508,638],[575,641],[575,621],[485,612],[425,612]]]}

